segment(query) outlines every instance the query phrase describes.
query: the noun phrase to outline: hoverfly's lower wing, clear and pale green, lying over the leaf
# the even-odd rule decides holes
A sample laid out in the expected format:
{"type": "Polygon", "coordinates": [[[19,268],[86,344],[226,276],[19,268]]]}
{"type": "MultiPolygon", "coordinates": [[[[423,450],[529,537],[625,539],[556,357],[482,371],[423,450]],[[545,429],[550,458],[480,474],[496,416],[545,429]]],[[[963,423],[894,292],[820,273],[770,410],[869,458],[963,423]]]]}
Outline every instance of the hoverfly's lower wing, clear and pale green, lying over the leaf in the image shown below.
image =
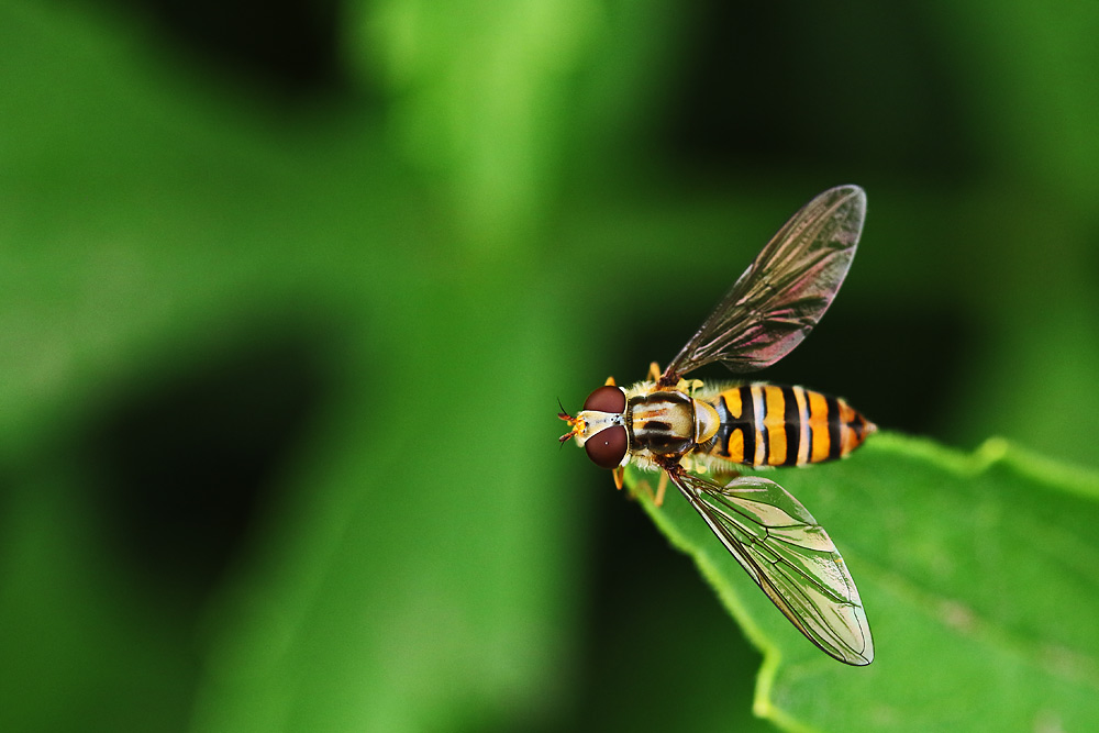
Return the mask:
{"type": "Polygon", "coordinates": [[[809,641],[851,665],[874,659],[863,603],[831,537],[782,487],[668,471],[733,557],[809,641]]]}

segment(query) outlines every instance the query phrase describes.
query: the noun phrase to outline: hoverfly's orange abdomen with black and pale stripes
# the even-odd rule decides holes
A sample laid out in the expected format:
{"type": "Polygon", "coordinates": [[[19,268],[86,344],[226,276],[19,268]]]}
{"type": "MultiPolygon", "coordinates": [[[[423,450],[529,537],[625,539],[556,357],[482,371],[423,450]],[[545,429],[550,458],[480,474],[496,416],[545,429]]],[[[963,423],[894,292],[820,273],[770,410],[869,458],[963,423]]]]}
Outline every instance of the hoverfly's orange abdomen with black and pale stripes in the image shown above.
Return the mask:
{"type": "Polygon", "coordinates": [[[842,458],[876,430],[844,400],[802,387],[755,382],[707,400],[721,427],[707,452],[750,466],[802,466],[842,458]]]}

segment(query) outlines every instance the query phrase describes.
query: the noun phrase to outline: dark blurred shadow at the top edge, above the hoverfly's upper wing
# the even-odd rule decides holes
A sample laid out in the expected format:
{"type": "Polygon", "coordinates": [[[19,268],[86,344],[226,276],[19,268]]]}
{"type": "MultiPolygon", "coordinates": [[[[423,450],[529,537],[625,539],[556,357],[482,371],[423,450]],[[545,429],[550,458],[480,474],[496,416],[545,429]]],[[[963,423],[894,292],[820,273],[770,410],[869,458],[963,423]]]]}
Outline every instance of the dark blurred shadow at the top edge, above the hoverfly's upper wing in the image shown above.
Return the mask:
{"type": "Polygon", "coordinates": [[[904,170],[955,184],[981,165],[935,37],[941,20],[923,5],[864,1],[840,13],[700,0],[684,10],[691,43],[658,132],[680,164],[719,176],[904,170]]]}

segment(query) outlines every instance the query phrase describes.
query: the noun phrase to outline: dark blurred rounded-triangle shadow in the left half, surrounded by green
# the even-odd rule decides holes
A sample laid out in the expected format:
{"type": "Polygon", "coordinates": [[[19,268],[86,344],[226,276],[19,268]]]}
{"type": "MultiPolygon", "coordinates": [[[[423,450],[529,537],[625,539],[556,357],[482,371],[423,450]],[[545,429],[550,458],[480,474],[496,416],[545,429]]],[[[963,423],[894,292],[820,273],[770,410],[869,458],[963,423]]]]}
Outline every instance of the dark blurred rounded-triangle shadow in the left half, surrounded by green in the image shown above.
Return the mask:
{"type": "Polygon", "coordinates": [[[336,390],[323,333],[263,332],[144,378],[80,438],[120,566],[176,601],[217,586],[336,390]]]}

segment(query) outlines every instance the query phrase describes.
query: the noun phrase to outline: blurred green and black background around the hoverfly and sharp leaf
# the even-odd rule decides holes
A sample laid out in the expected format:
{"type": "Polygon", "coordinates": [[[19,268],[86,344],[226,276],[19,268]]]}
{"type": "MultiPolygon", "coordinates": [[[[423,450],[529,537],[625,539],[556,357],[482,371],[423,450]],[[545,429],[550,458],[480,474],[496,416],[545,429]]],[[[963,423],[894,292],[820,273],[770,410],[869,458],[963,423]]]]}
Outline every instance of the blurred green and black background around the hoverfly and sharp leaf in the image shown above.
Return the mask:
{"type": "Polygon", "coordinates": [[[666,363],[852,182],[851,276],[765,377],[1099,466],[1097,37],[1067,2],[3,0],[0,730],[770,730],[557,399],[666,363]]]}

